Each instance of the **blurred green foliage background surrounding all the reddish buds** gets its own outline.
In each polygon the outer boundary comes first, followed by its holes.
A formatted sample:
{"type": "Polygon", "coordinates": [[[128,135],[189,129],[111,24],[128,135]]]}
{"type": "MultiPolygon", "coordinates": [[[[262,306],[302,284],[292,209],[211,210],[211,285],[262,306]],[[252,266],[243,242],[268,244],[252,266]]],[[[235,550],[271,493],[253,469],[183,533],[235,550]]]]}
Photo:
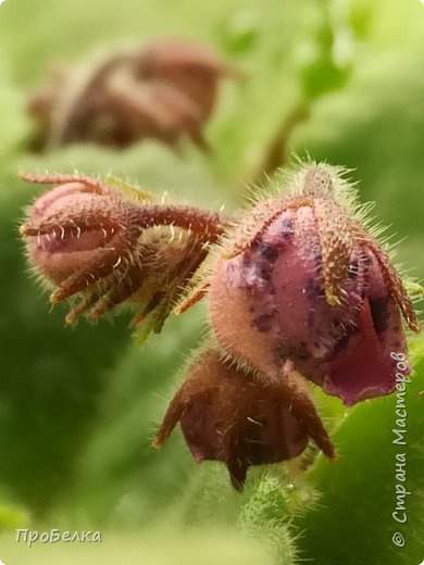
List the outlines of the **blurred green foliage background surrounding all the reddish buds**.
{"type": "MultiPolygon", "coordinates": [[[[395,399],[345,414],[319,397],[341,459],[253,469],[242,495],[220,465],[192,463],[154,428],[201,339],[204,305],[139,348],[123,314],[64,328],[28,276],[17,234],[37,189],[16,172],[122,175],[219,209],[291,153],[352,168],[361,199],[424,276],[424,5],[419,0],[7,0],[0,7],[0,560],[97,564],[410,564],[424,558],[424,348],[408,397],[408,524],[395,510],[395,399]],[[223,83],[203,154],[158,142],[29,150],[27,92],[52,62],[183,37],[214,47],[242,80],[223,83]],[[294,120],[300,114],[302,120],[294,120]],[[333,418],[333,419],[332,419],[333,418]],[[340,423],[341,422],[341,423],[340,423]],[[288,475],[286,473],[289,473],[288,475]],[[101,530],[102,543],[16,543],[16,528],[101,530]],[[401,531],[403,548],[392,535],[401,531]],[[421,532],[421,539],[420,539],[421,532]]],[[[396,448],[396,449],[395,449],[396,448]]]]}

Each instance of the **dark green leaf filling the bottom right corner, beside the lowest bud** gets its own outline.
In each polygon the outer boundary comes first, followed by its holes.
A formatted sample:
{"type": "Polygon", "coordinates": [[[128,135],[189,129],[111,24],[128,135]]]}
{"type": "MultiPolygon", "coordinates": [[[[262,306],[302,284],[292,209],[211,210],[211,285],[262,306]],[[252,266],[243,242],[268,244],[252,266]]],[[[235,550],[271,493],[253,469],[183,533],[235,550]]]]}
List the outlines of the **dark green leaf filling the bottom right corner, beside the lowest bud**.
{"type": "Polygon", "coordinates": [[[321,459],[310,472],[322,498],[316,510],[298,522],[303,558],[328,565],[419,564],[424,558],[424,340],[414,351],[407,416],[400,391],[357,405],[334,435],[339,461],[321,459]],[[403,497],[403,489],[410,494],[403,497]],[[399,510],[403,505],[406,510],[399,510]],[[394,543],[397,533],[404,547],[394,543]]]}

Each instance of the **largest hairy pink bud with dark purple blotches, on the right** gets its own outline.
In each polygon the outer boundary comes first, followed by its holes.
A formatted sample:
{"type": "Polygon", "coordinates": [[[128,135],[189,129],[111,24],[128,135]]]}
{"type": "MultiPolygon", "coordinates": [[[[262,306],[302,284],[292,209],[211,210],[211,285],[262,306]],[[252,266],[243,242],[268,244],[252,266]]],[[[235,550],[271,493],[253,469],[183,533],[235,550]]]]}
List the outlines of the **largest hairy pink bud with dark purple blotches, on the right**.
{"type": "Polygon", "coordinates": [[[395,389],[400,311],[419,329],[352,190],[336,168],[305,165],[291,193],[260,202],[227,236],[209,293],[225,351],[270,379],[289,360],[346,404],[395,389]]]}

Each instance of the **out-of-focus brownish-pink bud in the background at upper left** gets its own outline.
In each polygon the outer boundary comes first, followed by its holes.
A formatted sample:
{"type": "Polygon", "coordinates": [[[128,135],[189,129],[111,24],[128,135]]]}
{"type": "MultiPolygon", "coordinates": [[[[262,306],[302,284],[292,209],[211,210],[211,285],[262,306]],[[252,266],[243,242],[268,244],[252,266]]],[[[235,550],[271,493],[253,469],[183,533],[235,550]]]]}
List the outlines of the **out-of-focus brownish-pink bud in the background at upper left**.
{"type": "Polygon", "coordinates": [[[175,147],[188,137],[204,149],[202,128],[225,76],[236,73],[213,51],[179,39],[54,68],[28,100],[39,126],[35,148],[75,141],[123,148],[145,138],[175,147]]]}

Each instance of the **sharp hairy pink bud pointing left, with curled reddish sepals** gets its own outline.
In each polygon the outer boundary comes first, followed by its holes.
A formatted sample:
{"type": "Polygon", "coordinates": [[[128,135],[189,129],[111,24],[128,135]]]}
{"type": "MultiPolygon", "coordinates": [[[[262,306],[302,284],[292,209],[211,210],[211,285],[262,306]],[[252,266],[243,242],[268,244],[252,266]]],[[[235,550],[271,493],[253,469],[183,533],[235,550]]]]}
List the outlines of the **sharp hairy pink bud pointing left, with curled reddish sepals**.
{"type": "Polygon", "coordinates": [[[223,230],[219,214],[160,203],[149,192],[84,176],[23,176],[58,185],[21,227],[34,268],[55,288],[52,303],[83,294],[66,321],[102,316],[124,301],[142,303],[159,331],[185,285],[223,230]]]}

